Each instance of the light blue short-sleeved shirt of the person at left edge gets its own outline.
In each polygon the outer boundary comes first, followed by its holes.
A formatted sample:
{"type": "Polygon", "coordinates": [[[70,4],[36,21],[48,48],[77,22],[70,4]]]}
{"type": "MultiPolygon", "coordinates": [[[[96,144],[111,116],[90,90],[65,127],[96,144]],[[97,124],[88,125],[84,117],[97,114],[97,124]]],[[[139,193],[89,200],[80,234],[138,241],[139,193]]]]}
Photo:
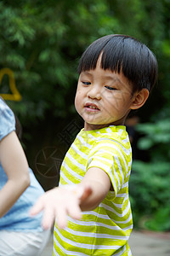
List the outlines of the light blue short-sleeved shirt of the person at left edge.
{"type": "MultiPolygon", "coordinates": [[[[14,113],[7,104],[0,98],[0,141],[10,132],[15,130],[14,113]]],[[[37,182],[36,177],[29,168],[31,184],[20,196],[14,206],[0,218],[0,230],[13,231],[41,231],[42,214],[36,218],[29,217],[29,210],[44,191],[37,182]]],[[[0,163],[0,189],[7,183],[8,177],[0,163]]]]}

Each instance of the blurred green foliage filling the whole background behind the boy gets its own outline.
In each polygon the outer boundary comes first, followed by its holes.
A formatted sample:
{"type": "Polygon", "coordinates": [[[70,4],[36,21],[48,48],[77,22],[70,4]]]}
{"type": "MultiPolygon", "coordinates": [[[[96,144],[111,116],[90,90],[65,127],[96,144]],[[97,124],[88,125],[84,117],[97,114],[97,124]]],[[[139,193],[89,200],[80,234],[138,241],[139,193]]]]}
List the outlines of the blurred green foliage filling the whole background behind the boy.
{"type": "MultiPolygon", "coordinates": [[[[74,96],[82,51],[96,38],[122,33],[156,54],[158,83],[138,113],[139,148],[148,151],[149,161],[134,160],[130,182],[134,223],[147,216],[154,230],[170,230],[169,9],[169,0],[0,1],[0,68],[14,71],[22,96],[8,105],[20,119],[27,158],[45,189],[56,177],[36,172],[37,153],[48,146],[66,150],[58,135],[78,118],[74,96]]],[[[8,78],[0,86],[1,93],[9,92],[8,78]]]]}

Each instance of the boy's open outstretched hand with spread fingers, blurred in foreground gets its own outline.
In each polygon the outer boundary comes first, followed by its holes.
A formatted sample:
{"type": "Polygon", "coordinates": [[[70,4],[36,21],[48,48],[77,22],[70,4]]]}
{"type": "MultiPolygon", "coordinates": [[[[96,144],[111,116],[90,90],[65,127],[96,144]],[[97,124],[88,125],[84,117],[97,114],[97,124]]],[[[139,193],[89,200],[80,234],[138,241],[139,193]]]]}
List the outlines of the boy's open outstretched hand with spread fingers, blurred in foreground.
{"type": "Polygon", "coordinates": [[[42,228],[48,230],[54,224],[59,229],[64,229],[67,224],[67,215],[71,218],[82,218],[80,204],[92,194],[92,189],[87,185],[65,185],[62,188],[54,188],[43,194],[37,203],[31,208],[33,217],[43,211],[42,228]]]}

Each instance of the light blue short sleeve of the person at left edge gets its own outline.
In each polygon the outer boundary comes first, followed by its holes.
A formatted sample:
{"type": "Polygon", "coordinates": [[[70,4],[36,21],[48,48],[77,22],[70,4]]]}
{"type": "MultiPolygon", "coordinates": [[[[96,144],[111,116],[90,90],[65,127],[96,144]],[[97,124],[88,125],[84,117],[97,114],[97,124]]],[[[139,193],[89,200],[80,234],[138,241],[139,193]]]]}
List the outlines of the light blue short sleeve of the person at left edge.
{"type": "Polygon", "coordinates": [[[0,98],[0,141],[15,130],[14,113],[0,98]]]}

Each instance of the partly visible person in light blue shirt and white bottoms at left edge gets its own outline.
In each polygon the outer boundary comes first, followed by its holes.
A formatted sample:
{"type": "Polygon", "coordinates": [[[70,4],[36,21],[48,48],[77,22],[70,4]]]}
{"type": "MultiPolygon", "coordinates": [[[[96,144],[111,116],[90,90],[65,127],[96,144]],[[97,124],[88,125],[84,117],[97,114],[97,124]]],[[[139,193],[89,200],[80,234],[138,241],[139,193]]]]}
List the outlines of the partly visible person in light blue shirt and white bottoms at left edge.
{"type": "Polygon", "coordinates": [[[41,255],[49,237],[42,215],[29,210],[44,193],[15,132],[14,113],[0,98],[0,256],[41,255]]]}

